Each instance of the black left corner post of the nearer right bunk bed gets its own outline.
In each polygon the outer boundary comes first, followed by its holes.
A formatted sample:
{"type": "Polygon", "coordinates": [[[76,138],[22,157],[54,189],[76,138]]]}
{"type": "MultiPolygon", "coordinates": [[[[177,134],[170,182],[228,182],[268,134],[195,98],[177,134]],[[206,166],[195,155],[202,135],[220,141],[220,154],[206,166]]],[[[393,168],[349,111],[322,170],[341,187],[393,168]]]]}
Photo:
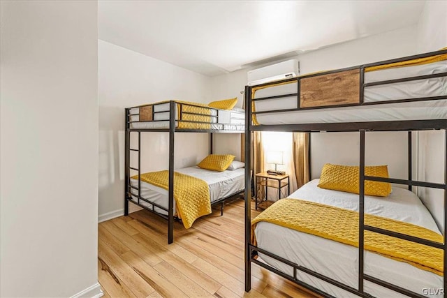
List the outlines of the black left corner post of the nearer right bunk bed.
{"type": "Polygon", "coordinates": [[[251,290],[251,87],[245,86],[245,292],[251,290]]]}

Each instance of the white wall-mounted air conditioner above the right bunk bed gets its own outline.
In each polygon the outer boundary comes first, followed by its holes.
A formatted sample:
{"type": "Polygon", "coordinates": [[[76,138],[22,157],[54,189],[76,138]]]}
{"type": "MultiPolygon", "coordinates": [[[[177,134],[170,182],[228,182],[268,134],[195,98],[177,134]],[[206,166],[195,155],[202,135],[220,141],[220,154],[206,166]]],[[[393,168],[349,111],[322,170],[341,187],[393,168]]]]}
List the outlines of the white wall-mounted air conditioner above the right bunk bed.
{"type": "Polygon", "coordinates": [[[247,73],[248,85],[254,86],[266,82],[283,80],[300,75],[298,60],[291,59],[277,64],[250,70],[247,73]]]}

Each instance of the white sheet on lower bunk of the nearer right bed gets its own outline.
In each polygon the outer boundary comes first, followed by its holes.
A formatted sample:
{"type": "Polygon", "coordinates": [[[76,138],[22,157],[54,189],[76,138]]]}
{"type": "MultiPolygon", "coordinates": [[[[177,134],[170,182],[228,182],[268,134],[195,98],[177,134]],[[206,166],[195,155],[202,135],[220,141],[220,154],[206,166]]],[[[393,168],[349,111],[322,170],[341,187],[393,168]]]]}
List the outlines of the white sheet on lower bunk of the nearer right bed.
{"type": "MultiPolygon", "coordinates": [[[[318,179],[310,181],[292,193],[289,198],[300,198],[358,210],[358,195],[318,188],[318,181],[318,179]]],[[[365,196],[365,212],[420,225],[440,234],[430,212],[419,198],[403,188],[393,188],[388,198],[365,196]]],[[[258,247],[337,281],[342,281],[353,288],[358,287],[358,248],[266,222],[256,225],[255,234],[258,247]]],[[[262,254],[260,257],[272,267],[293,276],[293,270],[288,265],[262,254]]],[[[443,287],[441,276],[376,253],[365,251],[364,264],[366,274],[420,294],[423,294],[423,288],[443,287]]],[[[335,297],[357,297],[300,271],[298,271],[298,278],[335,297]]],[[[365,281],[365,291],[374,297],[404,297],[368,281],[365,281]]]]}

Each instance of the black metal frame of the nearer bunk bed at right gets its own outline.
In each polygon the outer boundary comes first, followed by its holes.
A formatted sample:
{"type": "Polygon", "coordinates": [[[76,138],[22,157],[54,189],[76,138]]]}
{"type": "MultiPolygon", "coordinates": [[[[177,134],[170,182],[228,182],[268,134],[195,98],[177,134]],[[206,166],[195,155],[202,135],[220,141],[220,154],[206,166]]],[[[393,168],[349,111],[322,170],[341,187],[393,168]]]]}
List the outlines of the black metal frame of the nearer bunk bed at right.
{"type": "MultiPolygon", "coordinates": [[[[365,84],[363,82],[364,78],[364,72],[365,68],[369,66],[379,66],[382,64],[391,64],[395,62],[400,61],[406,61],[410,59],[418,59],[423,57],[430,57],[434,54],[446,54],[447,50],[441,50],[437,52],[430,52],[426,54],[418,54],[411,57],[403,57],[400,59],[392,59],[387,61],[381,61],[374,64],[365,64],[362,66],[356,66],[352,68],[343,68],[339,70],[332,70],[324,73],[316,73],[314,75],[304,75],[302,77],[296,77],[293,79],[288,80],[281,80],[277,82],[270,82],[258,85],[256,87],[261,86],[268,86],[270,84],[275,84],[278,82],[291,82],[291,81],[297,81],[298,82],[298,90],[296,94],[286,94],[281,96],[269,96],[265,98],[252,98],[251,91],[253,87],[246,86],[245,87],[245,106],[251,107],[252,100],[267,100],[267,99],[274,99],[274,98],[283,98],[287,96],[298,96],[298,108],[296,109],[288,109],[288,110],[274,110],[274,111],[266,111],[266,112],[252,112],[251,108],[247,108],[245,111],[245,185],[249,185],[250,183],[250,168],[251,168],[251,132],[252,131],[289,131],[289,132],[352,132],[352,131],[358,131],[360,133],[360,161],[359,161],[359,167],[360,167],[360,194],[359,194],[359,239],[358,239],[358,288],[352,288],[349,285],[346,285],[342,282],[336,281],[333,278],[330,278],[328,276],[325,276],[323,274],[319,274],[316,271],[313,271],[311,269],[308,269],[306,267],[302,267],[298,264],[295,264],[289,260],[286,260],[284,258],[279,257],[278,255],[274,255],[273,253],[270,253],[268,251],[265,251],[261,248],[258,248],[257,246],[254,246],[251,244],[251,188],[245,188],[245,291],[249,292],[251,290],[251,262],[264,267],[265,269],[268,269],[270,271],[273,271],[274,273],[278,274],[279,276],[282,276],[289,281],[293,281],[294,283],[297,283],[298,285],[301,285],[304,288],[307,288],[308,290],[311,290],[312,292],[315,292],[319,295],[322,295],[323,297],[331,297],[328,295],[328,293],[323,292],[322,290],[319,290],[315,288],[312,285],[309,285],[303,281],[298,280],[297,278],[297,270],[300,270],[302,272],[305,272],[306,274],[309,274],[311,276],[314,276],[316,278],[320,278],[322,281],[325,281],[327,283],[330,283],[332,285],[336,285],[339,288],[342,288],[343,290],[346,290],[348,292],[351,292],[355,295],[358,295],[360,297],[371,297],[367,292],[365,292],[363,283],[364,281],[369,281],[372,283],[376,283],[377,285],[381,285],[384,288],[388,288],[390,290],[394,290],[396,292],[400,292],[401,294],[407,295],[409,297],[425,297],[423,295],[420,295],[420,293],[416,293],[410,290],[407,290],[405,288],[399,287],[397,285],[393,285],[391,283],[388,283],[387,281],[383,281],[380,278],[377,278],[375,276],[369,276],[365,274],[364,272],[364,231],[369,230],[376,233],[386,234],[391,237],[397,237],[400,239],[405,239],[408,241],[413,241],[419,244],[425,244],[427,246],[432,246],[435,248],[440,248],[444,251],[444,290],[447,290],[447,278],[446,278],[446,272],[447,272],[447,241],[446,241],[446,228],[447,228],[447,119],[431,119],[431,120],[409,120],[409,121],[371,121],[371,122],[354,122],[354,123],[323,123],[323,124],[278,124],[278,125],[258,125],[254,126],[251,121],[251,117],[253,114],[261,114],[261,113],[281,113],[281,112],[289,112],[289,111],[297,111],[297,110],[309,110],[311,108],[300,108],[300,80],[305,77],[313,77],[317,75],[325,75],[328,73],[337,73],[339,71],[344,70],[352,70],[356,68],[360,68],[360,103],[358,105],[380,105],[380,104],[386,104],[386,103],[401,103],[401,102],[409,102],[409,101],[422,101],[422,100],[443,100],[447,99],[447,96],[431,96],[427,98],[411,98],[411,99],[401,99],[401,100],[387,100],[387,101],[381,101],[381,102],[374,102],[374,103],[364,103],[363,102],[363,91],[365,87],[368,86],[374,86],[374,85],[380,85],[380,84],[394,84],[398,82],[408,82],[412,80],[423,80],[427,78],[432,77],[445,77],[447,76],[447,73],[438,73],[438,74],[432,74],[432,75],[421,75],[416,77],[406,77],[406,78],[400,78],[396,80],[386,80],[381,82],[374,82],[365,84]],[[422,130],[444,130],[444,137],[446,139],[446,142],[444,144],[444,183],[443,184],[437,184],[437,183],[430,183],[425,181],[415,181],[411,177],[411,131],[422,131],[422,130]],[[408,131],[408,167],[409,167],[409,173],[408,173],[408,180],[403,179],[392,179],[392,178],[381,178],[381,177],[370,177],[365,175],[365,132],[366,131],[408,131]],[[403,184],[407,185],[409,187],[409,190],[411,191],[412,186],[421,186],[421,187],[427,187],[427,188],[439,188],[444,190],[444,243],[438,243],[435,241],[428,241],[426,239],[421,239],[418,237],[411,237],[406,234],[400,234],[397,232],[389,231],[389,230],[383,230],[380,228],[375,228],[370,225],[365,225],[365,181],[381,181],[381,182],[389,182],[389,183],[395,183],[395,184],[403,184]],[[279,271],[278,269],[275,269],[274,267],[271,267],[270,265],[267,265],[266,263],[260,262],[256,260],[256,255],[258,253],[263,253],[265,255],[268,255],[271,258],[274,258],[275,260],[278,260],[280,262],[283,262],[286,265],[289,265],[293,268],[293,276],[289,276],[288,274],[283,273],[282,271],[279,271]]],[[[316,108],[328,108],[328,107],[346,107],[349,105],[332,105],[332,106],[325,106],[325,107],[316,107],[316,108]]],[[[309,140],[310,142],[310,140],[309,140]]],[[[310,147],[310,144],[309,144],[310,147]]]]}

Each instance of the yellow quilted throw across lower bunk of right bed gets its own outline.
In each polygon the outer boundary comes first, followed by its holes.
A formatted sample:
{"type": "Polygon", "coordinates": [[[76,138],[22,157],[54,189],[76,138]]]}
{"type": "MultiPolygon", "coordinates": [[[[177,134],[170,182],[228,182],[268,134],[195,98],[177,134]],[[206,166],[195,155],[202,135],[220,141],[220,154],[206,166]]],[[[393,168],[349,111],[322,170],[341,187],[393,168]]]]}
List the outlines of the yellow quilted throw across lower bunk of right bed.
{"type": "MultiPolygon", "coordinates": [[[[251,243],[256,245],[256,223],[268,221],[300,232],[358,247],[358,212],[295,199],[281,199],[251,221],[251,243]]],[[[444,237],[411,223],[365,214],[365,224],[442,243],[444,237]]],[[[443,275],[443,252],[423,244],[365,230],[365,250],[423,270],[443,275]]]]}

